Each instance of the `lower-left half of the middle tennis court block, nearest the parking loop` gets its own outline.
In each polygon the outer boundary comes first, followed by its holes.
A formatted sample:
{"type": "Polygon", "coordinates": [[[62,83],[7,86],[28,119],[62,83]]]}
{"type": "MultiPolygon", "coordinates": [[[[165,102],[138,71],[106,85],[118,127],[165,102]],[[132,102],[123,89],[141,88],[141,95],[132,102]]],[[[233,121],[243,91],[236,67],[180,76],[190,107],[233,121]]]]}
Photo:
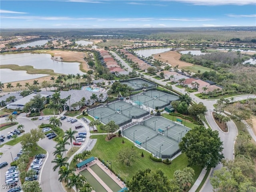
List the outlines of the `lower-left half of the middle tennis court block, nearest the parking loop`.
{"type": "Polygon", "coordinates": [[[132,121],[132,118],[128,118],[121,113],[116,112],[108,107],[94,108],[88,111],[88,114],[95,119],[99,119],[102,123],[107,124],[113,120],[119,126],[132,121]]]}

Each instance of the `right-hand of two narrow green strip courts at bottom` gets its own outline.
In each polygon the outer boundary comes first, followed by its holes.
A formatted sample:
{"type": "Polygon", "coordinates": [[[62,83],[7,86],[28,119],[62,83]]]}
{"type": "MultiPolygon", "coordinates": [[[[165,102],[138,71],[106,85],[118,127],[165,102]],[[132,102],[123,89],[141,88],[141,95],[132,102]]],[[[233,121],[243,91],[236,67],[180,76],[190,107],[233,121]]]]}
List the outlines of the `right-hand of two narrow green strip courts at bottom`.
{"type": "Polygon", "coordinates": [[[90,168],[100,177],[100,179],[108,185],[112,191],[119,191],[121,187],[112,179],[106,172],[104,172],[97,164],[90,166],[90,168]]]}

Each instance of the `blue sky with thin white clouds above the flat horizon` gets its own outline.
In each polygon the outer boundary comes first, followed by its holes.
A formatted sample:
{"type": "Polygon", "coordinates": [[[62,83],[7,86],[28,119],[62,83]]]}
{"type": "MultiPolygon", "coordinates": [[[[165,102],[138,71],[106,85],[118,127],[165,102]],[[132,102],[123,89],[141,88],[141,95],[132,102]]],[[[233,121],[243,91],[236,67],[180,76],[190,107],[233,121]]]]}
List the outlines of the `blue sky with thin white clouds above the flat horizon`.
{"type": "Polygon", "coordinates": [[[1,28],[256,26],[256,0],[1,0],[1,28]]]}

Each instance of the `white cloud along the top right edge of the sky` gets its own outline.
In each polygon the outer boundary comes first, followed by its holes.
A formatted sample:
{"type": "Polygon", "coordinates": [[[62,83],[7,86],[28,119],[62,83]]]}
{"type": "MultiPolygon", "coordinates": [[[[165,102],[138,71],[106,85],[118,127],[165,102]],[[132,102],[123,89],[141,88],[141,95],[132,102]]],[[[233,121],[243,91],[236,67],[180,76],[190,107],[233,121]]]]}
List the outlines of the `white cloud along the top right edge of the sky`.
{"type": "Polygon", "coordinates": [[[255,0],[165,0],[190,3],[194,5],[249,5],[256,4],[255,0]]]}

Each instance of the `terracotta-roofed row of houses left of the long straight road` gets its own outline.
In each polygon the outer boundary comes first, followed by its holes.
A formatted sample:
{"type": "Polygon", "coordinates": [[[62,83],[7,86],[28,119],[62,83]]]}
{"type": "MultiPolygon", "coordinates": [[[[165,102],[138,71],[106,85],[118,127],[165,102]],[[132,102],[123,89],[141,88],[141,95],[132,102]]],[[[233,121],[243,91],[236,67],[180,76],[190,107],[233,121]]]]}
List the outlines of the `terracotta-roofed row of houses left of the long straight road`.
{"type": "Polygon", "coordinates": [[[106,64],[106,68],[110,70],[111,73],[119,76],[120,74],[128,75],[129,72],[122,69],[118,63],[112,58],[112,56],[106,50],[101,50],[100,55],[103,57],[104,63],[106,64]],[[117,73],[118,72],[118,73],[117,73]]]}

